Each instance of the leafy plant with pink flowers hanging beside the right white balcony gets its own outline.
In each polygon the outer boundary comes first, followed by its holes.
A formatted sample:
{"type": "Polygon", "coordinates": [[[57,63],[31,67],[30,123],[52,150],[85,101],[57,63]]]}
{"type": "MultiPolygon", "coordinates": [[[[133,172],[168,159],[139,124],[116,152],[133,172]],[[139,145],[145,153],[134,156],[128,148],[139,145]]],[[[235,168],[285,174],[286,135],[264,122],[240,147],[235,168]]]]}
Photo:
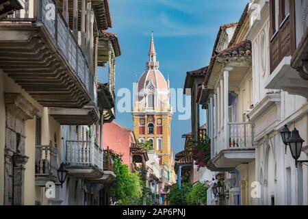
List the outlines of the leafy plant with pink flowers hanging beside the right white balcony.
{"type": "Polygon", "coordinates": [[[205,136],[198,136],[198,140],[192,142],[192,158],[198,168],[205,167],[211,159],[211,140],[205,136]]]}

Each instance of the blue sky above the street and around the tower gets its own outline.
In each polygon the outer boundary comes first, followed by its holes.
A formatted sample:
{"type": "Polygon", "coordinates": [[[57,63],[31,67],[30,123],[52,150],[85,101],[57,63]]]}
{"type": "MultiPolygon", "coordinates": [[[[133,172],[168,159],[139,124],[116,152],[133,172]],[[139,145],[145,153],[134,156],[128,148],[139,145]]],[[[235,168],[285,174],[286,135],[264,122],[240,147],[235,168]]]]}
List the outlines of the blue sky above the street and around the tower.
{"type": "MultiPolygon", "coordinates": [[[[116,60],[116,90],[132,90],[144,72],[154,31],[159,70],[170,87],[183,88],[186,72],[209,64],[220,25],[238,22],[248,0],[110,0],[113,27],[122,55],[116,60]]],[[[101,68],[104,82],[107,69],[101,68]]],[[[118,98],[119,99],[119,98],[118,98]]],[[[117,99],[117,101],[118,101],[117,99]]],[[[201,123],[205,113],[201,112],[201,123]]],[[[116,122],[133,128],[130,113],[116,113],[116,122]]],[[[183,150],[181,135],[190,132],[190,120],[172,121],[171,144],[175,153],[183,150]]]]}

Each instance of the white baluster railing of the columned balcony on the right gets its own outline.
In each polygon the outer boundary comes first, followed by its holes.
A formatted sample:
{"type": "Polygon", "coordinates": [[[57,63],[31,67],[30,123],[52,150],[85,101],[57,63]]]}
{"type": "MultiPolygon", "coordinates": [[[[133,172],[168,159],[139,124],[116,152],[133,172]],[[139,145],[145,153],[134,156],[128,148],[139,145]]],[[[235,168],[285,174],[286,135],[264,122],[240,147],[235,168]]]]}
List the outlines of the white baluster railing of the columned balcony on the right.
{"type": "MultiPolygon", "coordinates": [[[[225,129],[225,128],[224,128],[225,129]]],[[[251,149],[254,147],[254,124],[253,123],[229,123],[228,139],[224,129],[217,133],[214,138],[214,158],[222,150],[251,149]]]]}

